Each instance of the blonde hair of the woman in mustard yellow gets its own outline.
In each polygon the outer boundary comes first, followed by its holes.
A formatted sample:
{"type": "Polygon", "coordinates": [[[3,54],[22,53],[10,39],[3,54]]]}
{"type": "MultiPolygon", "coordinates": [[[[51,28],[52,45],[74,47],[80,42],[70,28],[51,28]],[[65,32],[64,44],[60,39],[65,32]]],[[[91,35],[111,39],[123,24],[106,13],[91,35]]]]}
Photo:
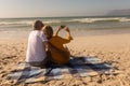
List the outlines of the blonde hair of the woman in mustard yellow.
{"type": "Polygon", "coordinates": [[[47,35],[47,39],[51,39],[53,35],[53,29],[51,26],[44,26],[42,29],[43,33],[47,35]]]}

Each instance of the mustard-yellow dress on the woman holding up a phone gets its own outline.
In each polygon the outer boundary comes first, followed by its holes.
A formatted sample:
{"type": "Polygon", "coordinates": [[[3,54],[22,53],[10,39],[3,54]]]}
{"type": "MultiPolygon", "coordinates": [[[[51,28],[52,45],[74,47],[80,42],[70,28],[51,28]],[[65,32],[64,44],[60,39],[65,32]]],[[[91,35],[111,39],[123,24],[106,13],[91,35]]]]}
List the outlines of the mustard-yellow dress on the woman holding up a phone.
{"type": "Polygon", "coordinates": [[[69,52],[63,46],[66,43],[69,43],[69,39],[63,39],[58,35],[52,37],[49,42],[57,48],[60,52],[51,52],[52,54],[52,61],[55,63],[64,64],[69,61],[69,52]]]}

